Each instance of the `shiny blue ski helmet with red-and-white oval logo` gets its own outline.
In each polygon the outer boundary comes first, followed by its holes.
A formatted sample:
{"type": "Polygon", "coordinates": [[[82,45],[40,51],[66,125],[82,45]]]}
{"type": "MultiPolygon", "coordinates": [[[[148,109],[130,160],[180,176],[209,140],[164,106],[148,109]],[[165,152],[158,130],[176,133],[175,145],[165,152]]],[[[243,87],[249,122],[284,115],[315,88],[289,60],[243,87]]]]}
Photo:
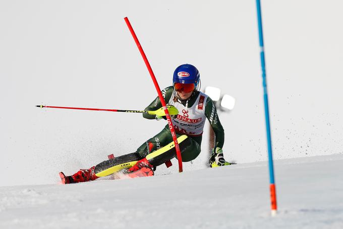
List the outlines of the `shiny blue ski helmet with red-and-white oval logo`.
{"type": "Polygon", "coordinates": [[[173,75],[173,83],[194,83],[198,85],[200,79],[199,71],[191,64],[183,64],[177,67],[173,75]]]}

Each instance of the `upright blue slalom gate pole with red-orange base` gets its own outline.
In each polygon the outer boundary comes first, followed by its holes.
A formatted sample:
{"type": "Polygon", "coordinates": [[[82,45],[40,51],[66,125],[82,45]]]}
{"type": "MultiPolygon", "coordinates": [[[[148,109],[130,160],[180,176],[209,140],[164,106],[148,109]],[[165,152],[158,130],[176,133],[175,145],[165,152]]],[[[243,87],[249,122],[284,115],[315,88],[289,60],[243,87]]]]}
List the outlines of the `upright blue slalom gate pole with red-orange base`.
{"type": "Polygon", "coordinates": [[[267,131],[271,214],[275,215],[276,210],[277,210],[277,205],[276,205],[276,191],[275,191],[275,180],[274,180],[273,154],[272,154],[272,148],[271,148],[268,91],[267,91],[266,68],[265,68],[265,60],[264,60],[264,44],[263,44],[263,30],[262,30],[262,16],[261,16],[260,0],[256,0],[256,8],[257,8],[257,21],[258,21],[258,34],[259,34],[259,40],[260,40],[260,57],[261,57],[262,80],[263,80],[264,114],[265,114],[266,131],[267,131]]]}

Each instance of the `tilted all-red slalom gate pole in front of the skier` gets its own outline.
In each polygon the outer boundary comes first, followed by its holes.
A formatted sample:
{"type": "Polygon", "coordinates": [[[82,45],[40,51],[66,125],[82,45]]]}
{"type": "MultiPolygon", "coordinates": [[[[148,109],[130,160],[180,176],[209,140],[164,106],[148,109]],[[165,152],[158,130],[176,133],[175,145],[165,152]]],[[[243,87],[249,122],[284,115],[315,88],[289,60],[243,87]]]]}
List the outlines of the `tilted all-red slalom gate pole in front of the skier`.
{"type": "Polygon", "coordinates": [[[133,36],[133,39],[135,40],[135,42],[137,44],[139,52],[141,53],[141,55],[143,57],[144,63],[146,65],[146,67],[148,68],[148,71],[150,73],[151,79],[152,79],[152,81],[153,81],[153,83],[155,85],[155,88],[157,90],[157,94],[158,94],[159,100],[161,101],[161,104],[162,104],[165,116],[167,118],[167,122],[168,122],[168,126],[169,126],[169,129],[170,129],[170,132],[172,133],[172,136],[173,136],[173,141],[174,141],[175,149],[176,149],[176,155],[177,155],[178,161],[179,161],[179,172],[182,172],[182,158],[181,158],[181,151],[180,151],[178,139],[177,139],[176,132],[175,132],[175,129],[174,129],[174,126],[173,126],[172,118],[170,118],[168,109],[166,107],[164,98],[162,96],[161,89],[159,88],[159,85],[158,85],[158,82],[156,80],[155,74],[154,74],[154,72],[151,69],[151,66],[149,64],[148,58],[145,56],[143,48],[142,48],[141,44],[139,43],[139,40],[138,40],[138,38],[136,36],[135,31],[133,30],[133,28],[131,26],[131,23],[130,23],[128,17],[125,17],[124,20],[125,20],[127,26],[129,27],[131,35],[133,36]]]}

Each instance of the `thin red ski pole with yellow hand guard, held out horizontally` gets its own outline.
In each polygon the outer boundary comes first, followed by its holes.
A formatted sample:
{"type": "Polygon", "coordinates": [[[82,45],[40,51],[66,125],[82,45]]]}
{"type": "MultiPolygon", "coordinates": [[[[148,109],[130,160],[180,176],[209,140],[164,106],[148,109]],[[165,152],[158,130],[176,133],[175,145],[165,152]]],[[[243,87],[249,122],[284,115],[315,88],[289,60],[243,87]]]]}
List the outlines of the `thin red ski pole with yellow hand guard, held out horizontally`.
{"type": "MultiPolygon", "coordinates": [[[[128,112],[128,113],[146,113],[151,115],[164,116],[163,108],[157,109],[155,111],[136,111],[136,110],[119,110],[119,109],[99,109],[99,108],[82,108],[82,107],[55,107],[55,106],[43,106],[37,105],[40,108],[59,108],[59,109],[73,109],[73,110],[89,110],[89,111],[112,111],[112,112],[128,112]]],[[[173,106],[167,106],[169,113],[171,115],[177,115],[179,113],[178,109],[173,106]]]]}

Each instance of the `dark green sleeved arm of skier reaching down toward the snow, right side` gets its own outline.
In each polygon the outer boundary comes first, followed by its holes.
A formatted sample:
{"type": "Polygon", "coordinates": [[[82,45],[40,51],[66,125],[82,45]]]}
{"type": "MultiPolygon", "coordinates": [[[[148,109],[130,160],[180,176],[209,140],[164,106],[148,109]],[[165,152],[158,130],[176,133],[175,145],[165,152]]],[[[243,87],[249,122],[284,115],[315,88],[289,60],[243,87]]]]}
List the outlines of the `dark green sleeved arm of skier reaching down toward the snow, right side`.
{"type": "Polygon", "coordinates": [[[211,127],[215,133],[215,145],[214,148],[223,148],[224,145],[224,128],[222,127],[219,117],[217,114],[217,109],[211,98],[207,98],[205,104],[205,115],[211,124],[211,127]]]}

